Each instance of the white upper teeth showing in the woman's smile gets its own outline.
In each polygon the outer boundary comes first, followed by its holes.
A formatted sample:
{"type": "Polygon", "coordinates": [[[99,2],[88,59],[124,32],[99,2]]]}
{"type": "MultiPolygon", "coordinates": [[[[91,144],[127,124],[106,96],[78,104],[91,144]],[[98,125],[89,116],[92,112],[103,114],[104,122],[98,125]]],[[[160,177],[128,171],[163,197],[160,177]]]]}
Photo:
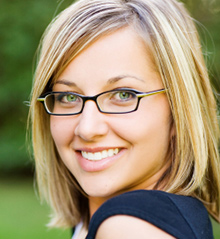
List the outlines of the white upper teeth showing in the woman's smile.
{"type": "Polygon", "coordinates": [[[81,151],[83,158],[86,158],[88,160],[94,160],[94,161],[112,157],[113,155],[118,154],[118,152],[119,152],[118,148],[103,150],[103,151],[95,152],[95,153],[81,151]]]}

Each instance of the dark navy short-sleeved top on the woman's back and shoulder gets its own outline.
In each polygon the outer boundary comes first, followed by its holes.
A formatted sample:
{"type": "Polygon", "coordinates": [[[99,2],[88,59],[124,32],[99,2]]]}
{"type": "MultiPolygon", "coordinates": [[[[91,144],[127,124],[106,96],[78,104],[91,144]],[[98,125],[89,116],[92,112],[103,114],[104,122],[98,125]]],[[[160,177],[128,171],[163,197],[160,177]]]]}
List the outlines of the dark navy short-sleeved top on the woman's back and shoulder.
{"type": "Polygon", "coordinates": [[[127,192],[106,201],[94,213],[86,239],[94,239],[100,224],[113,215],[143,219],[178,239],[213,239],[208,213],[199,200],[156,190],[127,192]]]}

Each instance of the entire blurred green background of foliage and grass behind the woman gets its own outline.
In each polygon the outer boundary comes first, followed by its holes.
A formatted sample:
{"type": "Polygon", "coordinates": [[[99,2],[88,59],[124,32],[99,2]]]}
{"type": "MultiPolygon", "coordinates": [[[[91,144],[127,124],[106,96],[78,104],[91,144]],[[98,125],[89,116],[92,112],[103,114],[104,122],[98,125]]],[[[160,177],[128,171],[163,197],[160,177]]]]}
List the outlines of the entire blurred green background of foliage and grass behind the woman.
{"type": "MultiPolygon", "coordinates": [[[[26,119],[40,37],[72,0],[0,0],[0,239],[65,239],[70,230],[48,230],[49,208],[33,186],[34,166],[25,143],[26,119]]],[[[220,0],[184,0],[198,20],[203,52],[220,92],[220,0]]],[[[220,226],[214,223],[215,238],[220,226]]]]}

